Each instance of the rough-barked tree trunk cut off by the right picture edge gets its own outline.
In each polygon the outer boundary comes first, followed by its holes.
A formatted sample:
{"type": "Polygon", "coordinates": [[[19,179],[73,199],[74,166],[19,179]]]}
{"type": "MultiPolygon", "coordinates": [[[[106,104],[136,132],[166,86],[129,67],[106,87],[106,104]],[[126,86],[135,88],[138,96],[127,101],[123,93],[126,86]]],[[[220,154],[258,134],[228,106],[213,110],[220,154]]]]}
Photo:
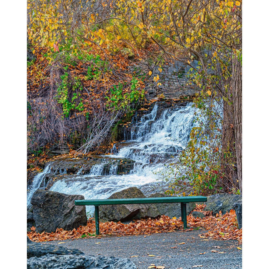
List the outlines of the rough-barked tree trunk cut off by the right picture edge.
{"type": "Polygon", "coordinates": [[[232,93],[233,93],[234,123],[235,123],[237,176],[238,176],[240,194],[242,194],[242,64],[238,60],[238,55],[234,56],[234,58],[232,59],[232,63],[233,63],[232,93]]]}

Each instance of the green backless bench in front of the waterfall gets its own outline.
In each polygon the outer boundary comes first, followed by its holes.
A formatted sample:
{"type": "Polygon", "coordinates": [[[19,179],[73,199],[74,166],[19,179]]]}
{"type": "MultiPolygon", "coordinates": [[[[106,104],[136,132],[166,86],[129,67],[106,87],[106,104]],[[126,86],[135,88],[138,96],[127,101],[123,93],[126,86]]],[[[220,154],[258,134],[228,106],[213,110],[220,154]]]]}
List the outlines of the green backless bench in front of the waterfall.
{"type": "Polygon", "coordinates": [[[130,198],[130,199],[100,199],[100,200],[75,200],[75,205],[93,205],[95,210],[95,228],[99,235],[99,206],[108,204],[163,204],[181,203],[181,221],[184,229],[187,228],[186,204],[190,202],[206,202],[205,196],[186,196],[186,197],[155,197],[155,198],[130,198]]]}

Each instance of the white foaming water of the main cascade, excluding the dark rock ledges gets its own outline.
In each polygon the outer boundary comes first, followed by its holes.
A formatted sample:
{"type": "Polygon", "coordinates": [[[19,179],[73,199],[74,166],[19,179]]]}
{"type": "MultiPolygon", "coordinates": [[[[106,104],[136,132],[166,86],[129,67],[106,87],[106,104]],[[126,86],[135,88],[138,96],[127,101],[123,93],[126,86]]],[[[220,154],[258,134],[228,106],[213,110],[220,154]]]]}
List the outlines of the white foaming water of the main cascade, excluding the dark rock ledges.
{"type": "MultiPolygon", "coordinates": [[[[132,123],[136,128],[131,133],[131,139],[122,144],[117,154],[109,155],[111,158],[135,161],[134,169],[129,174],[117,175],[115,165],[111,166],[109,175],[101,175],[102,165],[96,164],[88,175],[82,175],[80,171],[72,177],[62,175],[50,190],[80,194],[85,199],[106,199],[114,192],[155,182],[158,179],[155,172],[162,169],[163,160],[184,149],[189,140],[194,116],[191,105],[164,109],[161,117],[156,119],[158,105],[155,104],[151,113],[144,115],[140,122],[132,123]]],[[[88,206],[86,211],[93,213],[94,207],[88,206]]]]}

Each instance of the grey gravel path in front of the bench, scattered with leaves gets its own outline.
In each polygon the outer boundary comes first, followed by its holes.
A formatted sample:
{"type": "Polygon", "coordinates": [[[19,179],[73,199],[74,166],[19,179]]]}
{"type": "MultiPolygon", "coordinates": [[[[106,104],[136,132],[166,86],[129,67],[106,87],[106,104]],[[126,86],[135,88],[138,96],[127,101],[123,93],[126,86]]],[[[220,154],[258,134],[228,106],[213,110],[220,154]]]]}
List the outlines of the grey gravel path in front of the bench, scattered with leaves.
{"type": "Polygon", "coordinates": [[[242,244],[236,240],[199,237],[203,230],[156,233],[149,236],[108,236],[50,241],[46,244],[76,248],[86,255],[129,258],[137,268],[242,268],[242,244]],[[184,243],[184,244],[183,244],[184,243]],[[238,249],[240,247],[241,249],[238,249]],[[152,256],[150,256],[152,255],[152,256]]]}

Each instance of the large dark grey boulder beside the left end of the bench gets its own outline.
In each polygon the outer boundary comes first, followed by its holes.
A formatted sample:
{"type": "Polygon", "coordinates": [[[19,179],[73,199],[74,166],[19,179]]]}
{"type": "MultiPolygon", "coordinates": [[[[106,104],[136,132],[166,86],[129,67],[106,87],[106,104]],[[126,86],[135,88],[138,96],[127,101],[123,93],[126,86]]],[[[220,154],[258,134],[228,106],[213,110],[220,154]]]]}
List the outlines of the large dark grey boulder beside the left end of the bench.
{"type": "Polygon", "coordinates": [[[36,190],[31,199],[36,232],[51,233],[57,228],[73,230],[80,225],[85,226],[87,224],[86,208],[75,206],[75,200],[84,200],[84,196],[36,190]]]}

